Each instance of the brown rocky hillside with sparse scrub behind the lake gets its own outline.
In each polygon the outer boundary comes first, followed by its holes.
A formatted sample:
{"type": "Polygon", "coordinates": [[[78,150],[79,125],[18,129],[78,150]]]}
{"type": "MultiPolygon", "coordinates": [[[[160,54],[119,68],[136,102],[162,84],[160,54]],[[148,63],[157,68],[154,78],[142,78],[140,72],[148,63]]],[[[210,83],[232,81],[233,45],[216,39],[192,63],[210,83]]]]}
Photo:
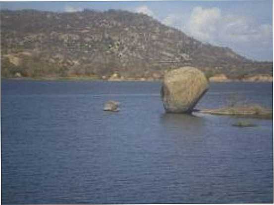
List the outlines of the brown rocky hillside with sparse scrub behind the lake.
{"type": "Polygon", "coordinates": [[[197,41],[143,14],[1,10],[1,76],[160,79],[194,66],[208,76],[271,74],[227,47],[197,41]]]}

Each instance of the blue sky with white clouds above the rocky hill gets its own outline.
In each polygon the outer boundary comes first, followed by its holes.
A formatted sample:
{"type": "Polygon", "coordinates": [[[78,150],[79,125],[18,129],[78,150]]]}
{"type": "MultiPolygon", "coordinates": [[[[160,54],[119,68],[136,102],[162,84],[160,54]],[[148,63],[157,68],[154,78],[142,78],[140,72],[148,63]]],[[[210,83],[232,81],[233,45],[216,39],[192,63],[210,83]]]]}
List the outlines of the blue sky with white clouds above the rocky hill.
{"type": "Polygon", "coordinates": [[[0,2],[1,9],[76,12],[121,9],[144,13],[195,39],[272,61],[272,0],[215,1],[35,1],[0,2]]]}

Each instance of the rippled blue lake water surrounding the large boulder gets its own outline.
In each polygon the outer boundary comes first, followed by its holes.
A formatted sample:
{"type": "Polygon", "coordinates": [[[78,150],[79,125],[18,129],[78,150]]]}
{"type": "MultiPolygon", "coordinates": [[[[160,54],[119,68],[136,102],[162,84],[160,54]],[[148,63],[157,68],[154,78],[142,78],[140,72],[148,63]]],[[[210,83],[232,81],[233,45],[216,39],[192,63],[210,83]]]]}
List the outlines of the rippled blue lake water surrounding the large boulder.
{"type": "MultiPolygon", "coordinates": [[[[273,121],[165,114],[160,89],[1,80],[2,204],[273,203],[273,121]]],[[[196,108],[233,101],[272,108],[273,85],[211,83],[196,108]]]]}

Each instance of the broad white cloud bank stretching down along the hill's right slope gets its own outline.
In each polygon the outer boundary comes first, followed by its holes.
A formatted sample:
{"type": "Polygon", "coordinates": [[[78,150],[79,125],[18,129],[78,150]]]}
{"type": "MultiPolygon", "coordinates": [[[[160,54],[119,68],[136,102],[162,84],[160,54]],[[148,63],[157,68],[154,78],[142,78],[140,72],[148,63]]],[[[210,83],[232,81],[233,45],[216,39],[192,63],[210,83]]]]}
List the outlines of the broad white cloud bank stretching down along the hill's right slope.
{"type": "Polygon", "coordinates": [[[249,58],[272,59],[272,25],[260,24],[252,17],[224,15],[217,7],[199,6],[188,15],[169,14],[162,22],[197,40],[231,47],[249,58]]]}

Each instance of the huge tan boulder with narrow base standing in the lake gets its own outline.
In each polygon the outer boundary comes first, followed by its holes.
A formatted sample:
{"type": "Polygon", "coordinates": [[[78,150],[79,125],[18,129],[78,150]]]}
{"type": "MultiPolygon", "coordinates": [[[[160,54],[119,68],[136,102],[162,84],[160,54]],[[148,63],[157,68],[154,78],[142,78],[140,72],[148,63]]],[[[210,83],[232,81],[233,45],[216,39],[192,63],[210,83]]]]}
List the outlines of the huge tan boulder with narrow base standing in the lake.
{"type": "Polygon", "coordinates": [[[164,75],[162,99],[169,113],[191,113],[206,93],[209,83],[203,72],[193,67],[168,71],[164,75]]]}

